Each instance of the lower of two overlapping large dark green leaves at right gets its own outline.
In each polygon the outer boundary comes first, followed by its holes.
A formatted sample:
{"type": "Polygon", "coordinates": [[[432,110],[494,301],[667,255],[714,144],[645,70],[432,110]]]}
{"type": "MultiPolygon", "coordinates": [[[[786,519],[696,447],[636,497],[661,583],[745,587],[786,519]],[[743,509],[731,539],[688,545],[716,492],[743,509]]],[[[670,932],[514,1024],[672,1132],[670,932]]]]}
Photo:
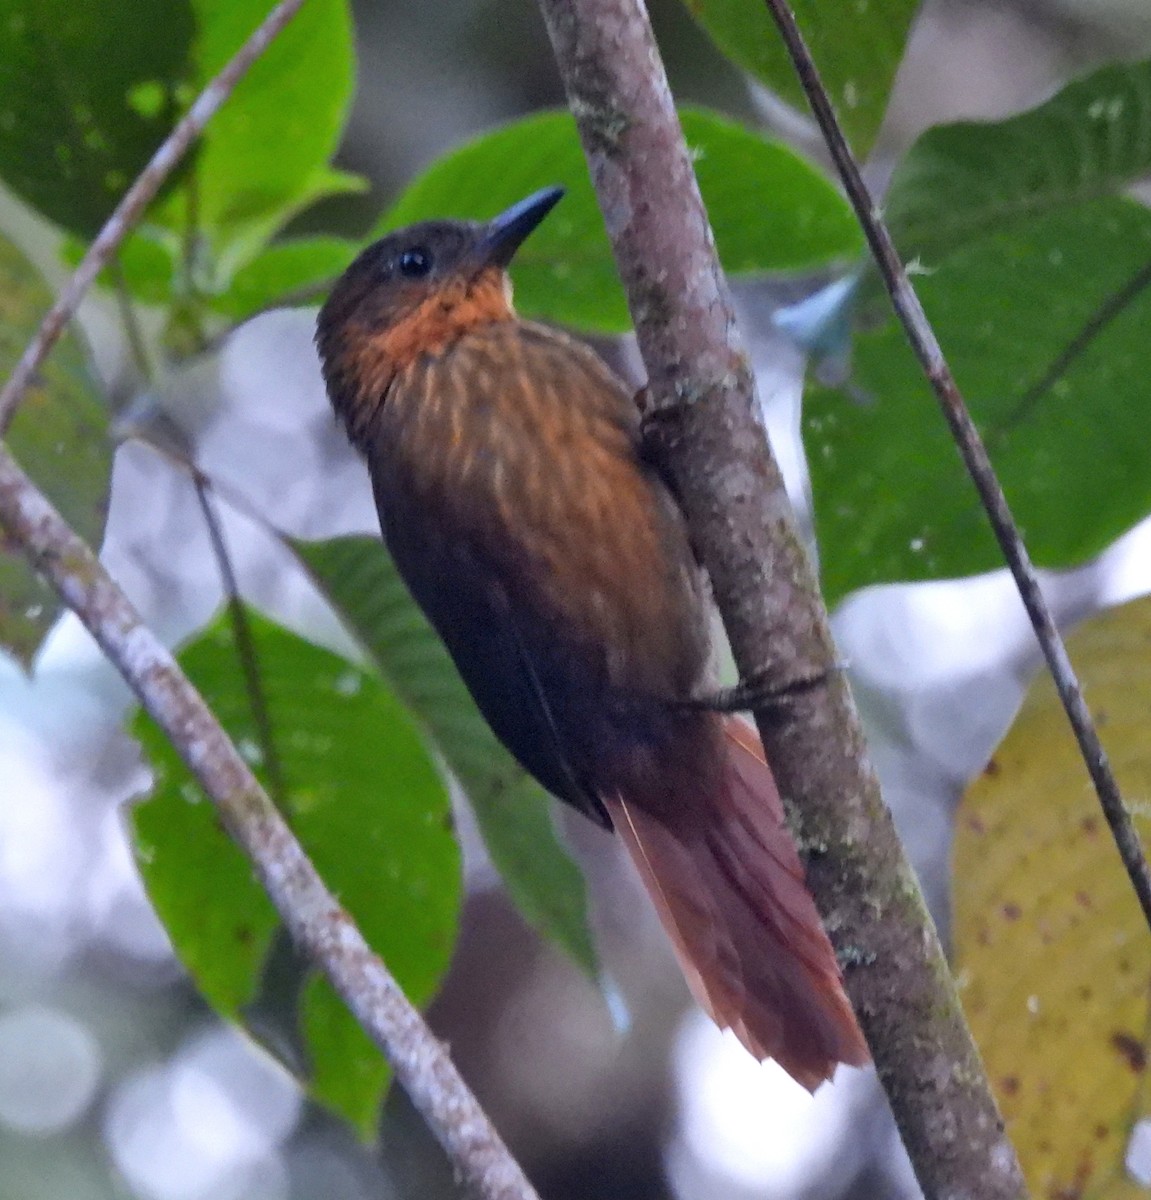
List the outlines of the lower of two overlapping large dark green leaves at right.
{"type": "MultiPolygon", "coordinates": [[[[1068,342],[1151,260],[1151,212],[1101,200],[952,254],[917,281],[1032,557],[1069,566],[1151,510],[1144,292],[1050,388],[1068,342]]],[[[894,320],[856,341],[850,392],[813,385],[804,440],[828,602],[1002,558],[894,320]],[[861,402],[859,394],[868,397],[861,402]]]]}

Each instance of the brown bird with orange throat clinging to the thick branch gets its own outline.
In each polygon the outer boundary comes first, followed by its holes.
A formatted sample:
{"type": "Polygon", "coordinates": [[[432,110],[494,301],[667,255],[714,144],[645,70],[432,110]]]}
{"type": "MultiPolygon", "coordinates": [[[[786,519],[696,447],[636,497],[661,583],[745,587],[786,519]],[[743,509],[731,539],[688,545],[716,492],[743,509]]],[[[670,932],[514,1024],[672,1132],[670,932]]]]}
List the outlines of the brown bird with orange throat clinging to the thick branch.
{"type": "Polygon", "coordinates": [[[508,265],[562,194],[365,250],[319,314],[328,394],[496,734],[618,830],[703,1008],[814,1088],[868,1051],[760,742],[697,703],[709,601],[684,518],[623,383],[511,306],[508,265]]]}

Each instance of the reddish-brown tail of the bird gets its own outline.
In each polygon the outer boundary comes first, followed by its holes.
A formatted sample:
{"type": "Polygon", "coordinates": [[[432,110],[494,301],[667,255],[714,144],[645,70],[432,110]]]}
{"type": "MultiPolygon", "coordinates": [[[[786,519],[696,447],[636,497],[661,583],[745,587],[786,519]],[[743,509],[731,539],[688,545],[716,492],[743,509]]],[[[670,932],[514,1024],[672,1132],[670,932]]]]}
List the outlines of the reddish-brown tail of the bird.
{"type": "Polygon", "coordinates": [[[625,796],[604,803],[700,1006],[814,1091],[838,1063],[868,1062],[867,1043],[760,739],[738,718],[724,732],[715,794],[659,816],[625,796]]]}

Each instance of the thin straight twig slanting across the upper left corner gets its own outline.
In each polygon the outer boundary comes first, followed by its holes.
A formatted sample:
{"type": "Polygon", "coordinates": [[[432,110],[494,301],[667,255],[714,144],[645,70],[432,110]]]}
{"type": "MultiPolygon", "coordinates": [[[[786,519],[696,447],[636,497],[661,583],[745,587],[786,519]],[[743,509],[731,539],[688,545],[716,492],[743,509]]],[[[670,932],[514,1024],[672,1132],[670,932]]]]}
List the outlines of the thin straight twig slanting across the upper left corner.
{"type": "Polygon", "coordinates": [[[36,336],[20,355],[19,362],[0,390],[0,437],[7,432],[17,406],[24,397],[41,364],[76,314],[84,293],[109,262],[128,230],[139,220],[163,181],[172,174],[188,146],[199,137],[204,126],[228,98],[247,68],[263,54],[269,42],[295,16],[304,0],[280,0],[252,36],[236,50],[228,65],[196,97],[196,102],[164,138],[148,166],[124,193],[115,211],[104,222],[96,240],[88,247],[79,266],[72,274],[56,302],[40,324],[36,336]]]}

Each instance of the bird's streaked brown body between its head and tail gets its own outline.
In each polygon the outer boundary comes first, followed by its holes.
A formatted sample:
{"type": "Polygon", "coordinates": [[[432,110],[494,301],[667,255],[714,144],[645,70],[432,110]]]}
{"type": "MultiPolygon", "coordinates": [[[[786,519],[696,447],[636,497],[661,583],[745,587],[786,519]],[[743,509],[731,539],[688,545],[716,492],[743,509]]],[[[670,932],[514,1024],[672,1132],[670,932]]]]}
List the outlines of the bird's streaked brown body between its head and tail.
{"type": "Polygon", "coordinates": [[[637,445],[591,350],[506,323],[401,374],[370,451],[388,545],[481,712],[600,822],[629,697],[689,695],[707,655],[683,521],[637,445]]]}

